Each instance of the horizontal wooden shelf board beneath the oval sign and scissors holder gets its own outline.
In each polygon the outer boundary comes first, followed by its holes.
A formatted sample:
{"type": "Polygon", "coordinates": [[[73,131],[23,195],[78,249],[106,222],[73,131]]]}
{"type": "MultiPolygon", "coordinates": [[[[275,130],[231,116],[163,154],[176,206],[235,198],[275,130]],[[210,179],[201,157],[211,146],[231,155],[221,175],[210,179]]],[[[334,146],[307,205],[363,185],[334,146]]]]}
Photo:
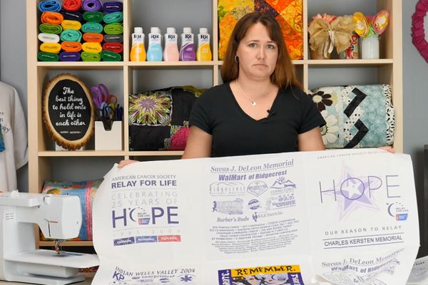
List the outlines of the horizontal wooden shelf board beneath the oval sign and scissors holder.
{"type": "Polygon", "coordinates": [[[159,150],[126,152],[124,150],[46,150],[39,152],[39,157],[91,157],[91,156],[178,156],[183,155],[182,150],[159,150]]]}

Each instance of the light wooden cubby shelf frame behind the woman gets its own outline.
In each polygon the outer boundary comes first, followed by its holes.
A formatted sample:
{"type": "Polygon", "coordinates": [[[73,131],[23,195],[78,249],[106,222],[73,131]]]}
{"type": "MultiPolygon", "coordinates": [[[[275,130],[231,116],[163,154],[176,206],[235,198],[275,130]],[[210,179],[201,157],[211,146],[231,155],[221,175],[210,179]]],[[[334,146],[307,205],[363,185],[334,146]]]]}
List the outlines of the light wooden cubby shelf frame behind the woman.
{"type": "MultiPolygon", "coordinates": [[[[113,70],[123,73],[124,120],[128,120],[128,94],[133,90],[133,73],[146,69],[208,69],[213,73],[213,86],[221,83],[219,71],[223,61],[218,60],[218,0],[212,3],[212,51],[213,61],[208,62],[131,62],[129,53],[131,33],[133,32],[133,0],[123,0],[123,61],[121,62],[39,62],[39,19],[41,13],[38,4],[41,0],[26,0],[27,23],[27,68],[28,68],[28,118],[29,118],[29,192],[40,192],[45,180],[51,180],[51,157],[123,157],[133,156],[159,157],[180,156],[183,152],[131,152],[128,143],[128,128],[124,128],[124,146],[121,151],[84,150],[74,152],[55,152],[49,150],[52,143],[46,135],[41,119],[41,99],[49,71],[55,69],[113,70]]],[[[134,0],[136,1],[136,0],[134,0]]],[[[378,60],[311,60],[308,54],[307,23],[309,0],[302,0],[303,5],[303,59],[292,61],[295,65],[305,90],[309,88],[309,71],[311,68],[377,68],[377,83],[387,83],[392,87],[392,101],[395,108],[394,148],[403,151],[403,84],[402,84],[402,0],[377,0],[377,11],[387,10],[391,15],[389,26],[381,37],[381,59],[378,60]]],[[[37,241],[39,242],[39,241],[37,241]]],[[[40,245],[45,242],[40,242],[40,245]]],[[[81,244],[81,243],[79,243],[81,244]]]]}

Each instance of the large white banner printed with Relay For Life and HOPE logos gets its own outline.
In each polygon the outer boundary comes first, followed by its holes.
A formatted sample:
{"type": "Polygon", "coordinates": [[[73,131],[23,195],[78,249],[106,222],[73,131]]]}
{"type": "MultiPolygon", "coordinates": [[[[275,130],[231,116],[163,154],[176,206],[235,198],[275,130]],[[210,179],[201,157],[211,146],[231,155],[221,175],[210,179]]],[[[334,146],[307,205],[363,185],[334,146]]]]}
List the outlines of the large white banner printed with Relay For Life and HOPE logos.
{"type": "Polygon", "coordinates": [[[364,149],[115,165],[93,244],[95,285],[406,284],[412,161],[364,149]]]}

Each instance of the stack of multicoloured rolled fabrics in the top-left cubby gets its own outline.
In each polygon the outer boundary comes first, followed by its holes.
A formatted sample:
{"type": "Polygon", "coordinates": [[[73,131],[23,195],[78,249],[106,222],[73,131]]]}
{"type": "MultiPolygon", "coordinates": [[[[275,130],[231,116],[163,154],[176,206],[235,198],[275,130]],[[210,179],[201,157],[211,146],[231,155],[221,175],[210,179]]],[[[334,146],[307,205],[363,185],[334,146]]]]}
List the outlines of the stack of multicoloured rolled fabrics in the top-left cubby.
{"type": "Polygon", "coordinates": [[[122,61],[122,2],[41,1],[39,10],[39,61],[122,61]]]}

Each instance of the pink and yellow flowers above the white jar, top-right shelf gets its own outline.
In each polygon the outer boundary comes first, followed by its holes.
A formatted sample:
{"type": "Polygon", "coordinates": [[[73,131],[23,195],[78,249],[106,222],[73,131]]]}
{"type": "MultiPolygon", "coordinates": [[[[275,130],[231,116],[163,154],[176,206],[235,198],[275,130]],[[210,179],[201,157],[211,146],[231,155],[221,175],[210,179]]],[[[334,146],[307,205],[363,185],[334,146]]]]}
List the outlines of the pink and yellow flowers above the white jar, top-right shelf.
{"type": "Polygon", "coordinates": [[[388,26],[389,13],[382,10],[376,16],[364,16],[361,12],[357,12],[352,16],[352,21],[355,24],[355,32],[359,36],[363,38],[379,36],[388,26]]]}

